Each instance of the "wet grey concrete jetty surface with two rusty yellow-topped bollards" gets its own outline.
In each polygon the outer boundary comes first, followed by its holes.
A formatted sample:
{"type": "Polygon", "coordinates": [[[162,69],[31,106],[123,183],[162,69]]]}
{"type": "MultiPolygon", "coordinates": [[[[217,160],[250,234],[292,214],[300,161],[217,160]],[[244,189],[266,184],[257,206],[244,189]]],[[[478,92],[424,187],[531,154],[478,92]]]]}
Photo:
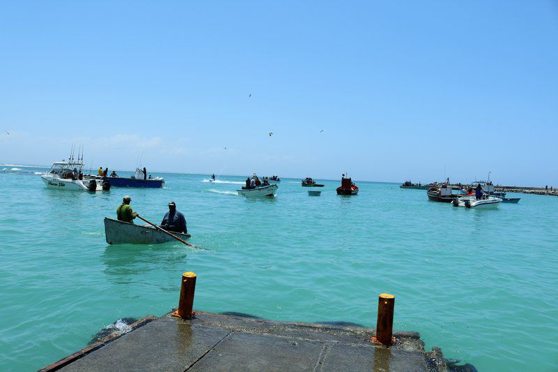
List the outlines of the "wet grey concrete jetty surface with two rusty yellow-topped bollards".
{"type": "Polygon", "coordinates": [[[416,332],[394,332],[386,347],[362,327],[203,312],[136,326],[41,371],[447,371],[442,352],[425,352],[416,332]]]}

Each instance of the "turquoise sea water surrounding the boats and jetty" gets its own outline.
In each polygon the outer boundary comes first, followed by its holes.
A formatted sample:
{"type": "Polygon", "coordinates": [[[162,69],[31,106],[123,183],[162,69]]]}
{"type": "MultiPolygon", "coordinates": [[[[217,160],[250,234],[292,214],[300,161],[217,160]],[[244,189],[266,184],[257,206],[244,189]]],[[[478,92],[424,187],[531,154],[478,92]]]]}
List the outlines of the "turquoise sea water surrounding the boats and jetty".
{"type": "Polygon", "coordinates": [[[389,292],[394,328],[446,358],[558,369],[558,198],[516,194],[519,204],[471,210],[357,174],[354,197],[335,195],[340,181],[310,197],[283,179],[277,198],[246,200],[235,191],[246,177],[198,174],[92,194],[47,190],[34,174],[43,169],[11,168],[0,173],[1,371],[39,369],[119,318],[166,313],[183,271],[198,275],[199,310],[375,327],[377,295],[389,292]],[[191,242],[210,251],[109,246],[103,217],[125,194],[156,223],[174,200],[191,242]]]}

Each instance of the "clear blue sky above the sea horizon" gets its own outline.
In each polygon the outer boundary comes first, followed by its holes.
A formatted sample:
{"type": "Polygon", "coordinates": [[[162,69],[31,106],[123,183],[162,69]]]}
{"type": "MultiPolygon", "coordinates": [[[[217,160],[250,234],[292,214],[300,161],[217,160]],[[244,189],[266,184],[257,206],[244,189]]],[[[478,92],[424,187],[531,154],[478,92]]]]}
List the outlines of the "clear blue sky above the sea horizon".
{"type": "Polygon", "coordinates": [[[3,2],[0,125],[1,163],[558,186],[558,1],[3,2]]]}

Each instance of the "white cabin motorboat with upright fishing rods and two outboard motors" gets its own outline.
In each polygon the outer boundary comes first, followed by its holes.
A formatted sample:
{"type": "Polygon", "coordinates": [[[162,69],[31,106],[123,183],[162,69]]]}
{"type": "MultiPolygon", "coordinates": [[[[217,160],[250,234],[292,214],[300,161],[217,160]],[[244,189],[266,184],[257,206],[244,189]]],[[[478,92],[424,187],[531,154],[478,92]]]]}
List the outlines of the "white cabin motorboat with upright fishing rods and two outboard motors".
{"type": "Polygon", "coordinates": [[[91,179],[83,175],[83,154],[74,158],[73,151],[68,161],[57,161],[52,164],[50,172],[41,174],[40,178],[47,188],[71,191],[108,191],[108,179],[91,179]]]}

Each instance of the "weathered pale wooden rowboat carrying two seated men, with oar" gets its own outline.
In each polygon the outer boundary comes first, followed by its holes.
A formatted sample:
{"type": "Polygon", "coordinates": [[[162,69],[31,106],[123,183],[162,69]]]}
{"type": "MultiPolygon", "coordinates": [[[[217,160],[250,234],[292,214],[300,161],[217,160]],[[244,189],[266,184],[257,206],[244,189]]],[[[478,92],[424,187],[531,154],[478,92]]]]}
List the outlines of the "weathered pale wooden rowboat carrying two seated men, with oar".
{"type": "MultiPolygon", "coordinates": [[[[183,240],[190,237],[190,234],[171,233],[183,240]]],[[[151,225],[135,225],[107,217],[105,217],[105,237],[108,244],[160,244],[175,241],[173,237],[151,225]]]]}

